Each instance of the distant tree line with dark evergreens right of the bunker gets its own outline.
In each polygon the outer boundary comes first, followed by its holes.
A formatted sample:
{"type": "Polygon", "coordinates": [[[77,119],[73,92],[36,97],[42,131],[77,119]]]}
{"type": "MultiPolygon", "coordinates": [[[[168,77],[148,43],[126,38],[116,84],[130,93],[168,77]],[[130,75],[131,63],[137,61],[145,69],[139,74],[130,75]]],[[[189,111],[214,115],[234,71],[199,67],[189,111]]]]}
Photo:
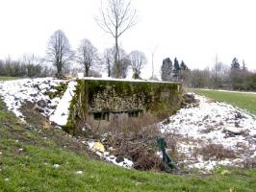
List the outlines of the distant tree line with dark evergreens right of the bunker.
{"type": "Polygon", "coordinates": [[[179,66],[177,59],[174,60],[173,65],[171,60],[163,60],[162,80],[180,81],[192,88],[256,90],[256,73],[246,68],[244,60],[240,63],[234,58],[228,65],[217,61],[214,67],[203,70],[190,70],[187,65],[185,67],[183,65],[181,62],[179,66]]]}

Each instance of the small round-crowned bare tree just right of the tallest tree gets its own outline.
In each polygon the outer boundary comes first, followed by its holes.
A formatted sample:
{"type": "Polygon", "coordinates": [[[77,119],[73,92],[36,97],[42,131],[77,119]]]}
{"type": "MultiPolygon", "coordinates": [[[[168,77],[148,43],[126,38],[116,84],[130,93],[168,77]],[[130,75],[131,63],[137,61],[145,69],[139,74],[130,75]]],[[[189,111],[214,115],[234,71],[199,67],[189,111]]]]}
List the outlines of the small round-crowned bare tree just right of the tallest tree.
{"type": "Polygon", "coordinates": [[[134,79],[139,79],[141,74],[141,68],[147,62],[145,55],[141,51],[132,51],[129,54],[132,69],[134,72],[134,79]]]}

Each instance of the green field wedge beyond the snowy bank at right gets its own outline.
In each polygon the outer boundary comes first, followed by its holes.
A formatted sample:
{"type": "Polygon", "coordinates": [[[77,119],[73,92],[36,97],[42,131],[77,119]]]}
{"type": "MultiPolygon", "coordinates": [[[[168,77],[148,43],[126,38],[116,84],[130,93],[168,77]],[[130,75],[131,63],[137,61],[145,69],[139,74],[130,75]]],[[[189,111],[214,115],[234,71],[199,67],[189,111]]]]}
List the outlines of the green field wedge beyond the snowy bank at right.
{"type": "Polygon", "coordinates": [[[189,89],[192,92],[205,95],[218,102],[225,102],[232,106],[246,109],[256,114],[256,94],[244,92],[224,92],[217,90],[189,89]]]}

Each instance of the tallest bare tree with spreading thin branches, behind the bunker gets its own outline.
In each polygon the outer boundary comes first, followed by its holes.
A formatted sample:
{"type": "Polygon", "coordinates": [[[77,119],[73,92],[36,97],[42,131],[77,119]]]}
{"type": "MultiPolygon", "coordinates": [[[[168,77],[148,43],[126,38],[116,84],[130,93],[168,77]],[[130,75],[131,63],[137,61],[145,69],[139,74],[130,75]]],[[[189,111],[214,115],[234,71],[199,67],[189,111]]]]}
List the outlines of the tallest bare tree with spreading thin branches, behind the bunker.
{"type": "Polygon", "coordinates": [[[137,12],[130,0],[108,0],[105,6],[101,3],[100,17],[96,18],[99,27],[115,38],[116,78],[121,77],[120,52],[118,38],[136,24],[137,12]]]}

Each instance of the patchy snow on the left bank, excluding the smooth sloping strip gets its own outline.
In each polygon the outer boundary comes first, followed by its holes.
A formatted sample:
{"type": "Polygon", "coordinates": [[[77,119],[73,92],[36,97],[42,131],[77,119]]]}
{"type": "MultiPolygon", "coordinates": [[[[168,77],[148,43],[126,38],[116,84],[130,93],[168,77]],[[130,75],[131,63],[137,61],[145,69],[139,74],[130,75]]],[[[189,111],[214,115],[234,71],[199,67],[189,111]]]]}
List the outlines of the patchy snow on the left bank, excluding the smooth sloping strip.
{"type": "Polygon", "coordinates": [[[37,79],[22,79],[0,82],[0,96],[3,98],[7,108],[25,121],[25,117],[20,111],[25,102],[31,102],[38,105],[39,102],[47,103],[42,109],[42,114],[50,115],[54,111],[54,106],[57,105],[58,99],[51,101],[46,91],[53,91],[53,87],[63,83],[62,80],[53,78],[37,78],[37,79]]]}

